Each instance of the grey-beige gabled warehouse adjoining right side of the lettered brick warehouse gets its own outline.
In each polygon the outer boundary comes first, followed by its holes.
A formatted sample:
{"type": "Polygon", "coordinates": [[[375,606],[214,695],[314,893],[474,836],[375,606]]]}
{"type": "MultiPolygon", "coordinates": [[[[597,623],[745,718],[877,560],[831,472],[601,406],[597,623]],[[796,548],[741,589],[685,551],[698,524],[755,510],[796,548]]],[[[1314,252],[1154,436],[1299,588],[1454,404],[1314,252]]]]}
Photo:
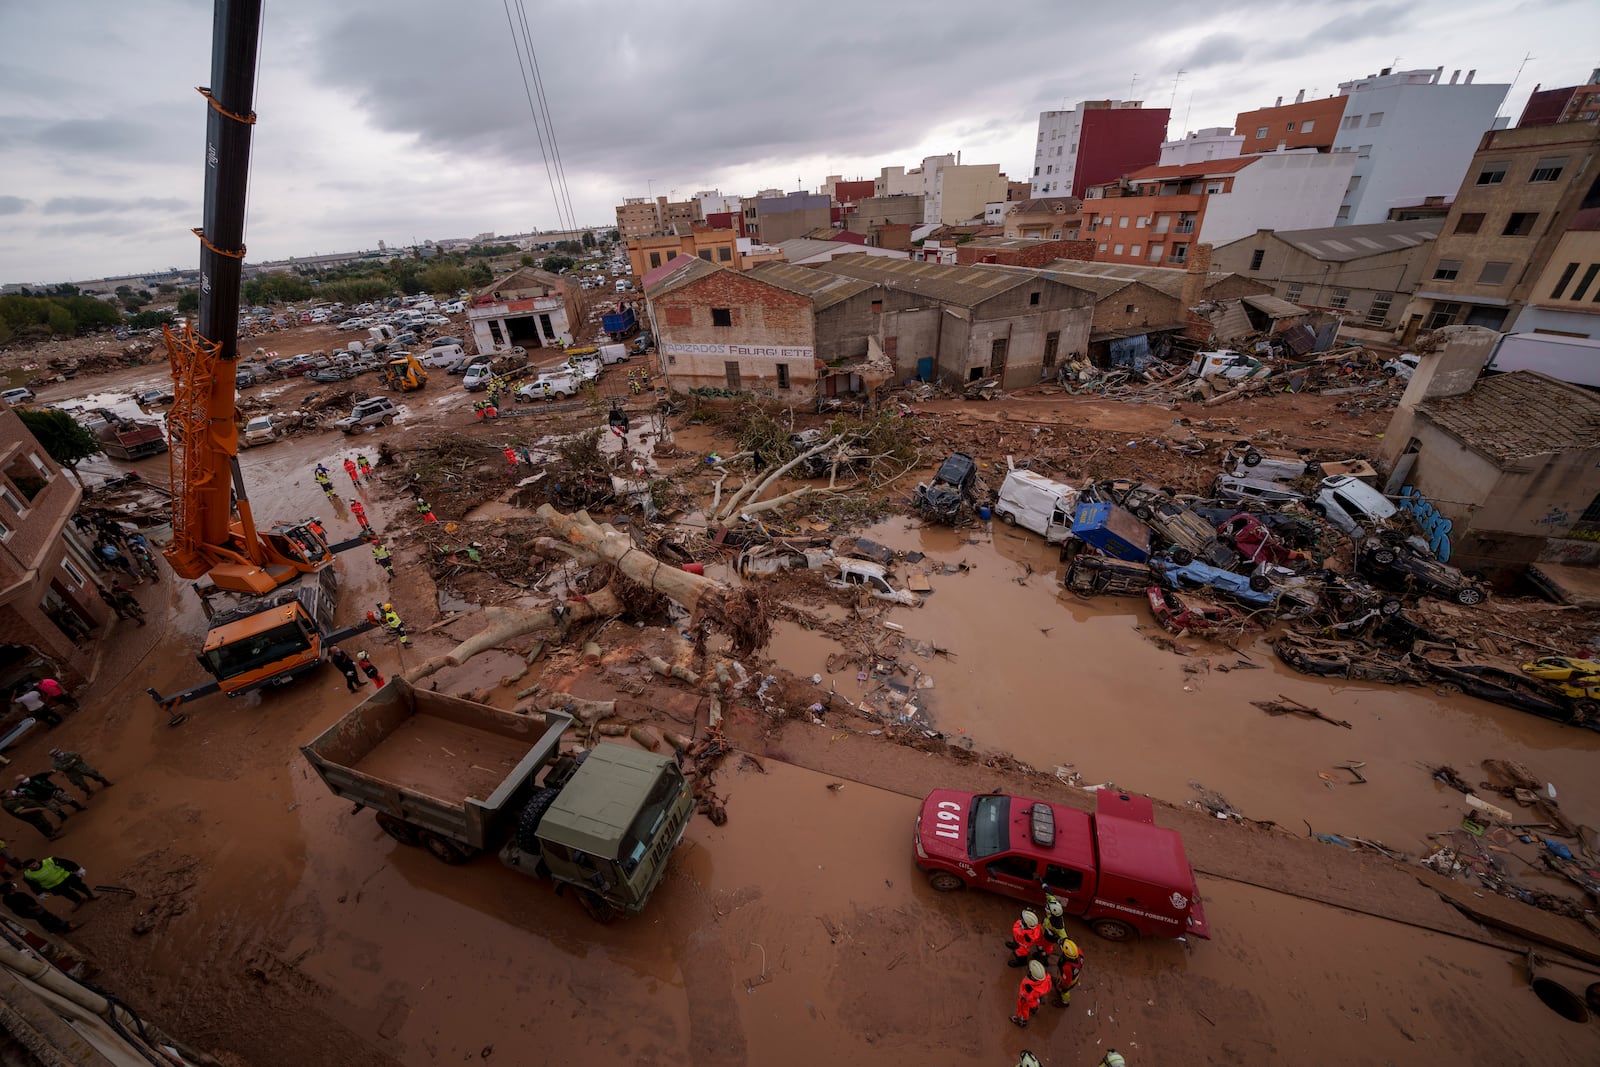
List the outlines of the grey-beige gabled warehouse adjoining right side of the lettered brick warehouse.
{"type": "Polygon", "coordinates": [[[877,336],[899,378],[1021,389],[1088,347],[1093,294],[1032,272],[870,256],[816,270],[883,288],[877,336]]]}

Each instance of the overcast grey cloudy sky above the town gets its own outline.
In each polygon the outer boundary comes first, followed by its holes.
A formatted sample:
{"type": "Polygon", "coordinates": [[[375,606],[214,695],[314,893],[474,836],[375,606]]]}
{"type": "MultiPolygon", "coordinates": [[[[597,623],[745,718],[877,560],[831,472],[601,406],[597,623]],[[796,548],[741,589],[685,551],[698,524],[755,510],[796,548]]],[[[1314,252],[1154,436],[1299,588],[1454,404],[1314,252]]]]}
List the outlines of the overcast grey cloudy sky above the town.
{"type": "MultiPolygon", "coordinates": [[[[1024,179],[1038,112],[1080,99],[1171,104],[1176,138],[1387,66],[1509,83],[1531,54],[1515,118],[1600,64],[1595,0],[523,3],[574,214],[608,226],[627,195],[938,152],[1024,179]]],[[[0,0],[0,282],[195,266],[211,3],[0,0]]],[[[502,0],[267,0],[256,112],[250,261],[560,224],[502,0]]]]}

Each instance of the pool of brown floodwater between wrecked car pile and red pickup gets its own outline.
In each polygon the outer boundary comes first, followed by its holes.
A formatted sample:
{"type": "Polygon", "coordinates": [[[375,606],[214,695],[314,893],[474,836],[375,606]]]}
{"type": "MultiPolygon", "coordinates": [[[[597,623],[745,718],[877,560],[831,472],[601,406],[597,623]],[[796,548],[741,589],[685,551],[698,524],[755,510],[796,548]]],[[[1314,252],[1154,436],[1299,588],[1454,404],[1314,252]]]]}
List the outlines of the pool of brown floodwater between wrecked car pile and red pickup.
{"type": "MultiPolygon", "coordinates": [[[[1176,654],[1150,640],[1171,643],[1144,598],[1067,592],[1058,550],[1002,523],[949,530],[894,518],[864,536],[926,553],[922,563],[899,563],[901,579],[910,569],[938,571],[931,565],[939,563],[968,568],[933,573],[923,606],[883,616],[907,638],[949,649],[930,657],[896,653],[933,680],[910,699],[928,726],[947,736],[1013,752],[1045,771],[1077,771],[1085,784],[1115,782],[1174,803],[1194,798],[1198,784],[1253,819],[1294,832],[1309,822],[1411,853],[1426,849],[1427,833],[1461,819],[1459,793],[1426,769],[1440,763],[1477,782],[1483,758],[1522,761],[1557,785],[1570,817],[1600,824],[1594,731],[1427,688],[1299,675],[1278,662],[1266,635],[1246,637],[1238,651],[1181,638],[1192,651],[1176,654]],[[1250,704],[1280,694],[1350,729],[1250,704]],[[1368,784],[1338,769],[1352,761],[1366,763],[1368,784]]],[[[776,629],[771,648],[795,673],[821,673],[859,701],[877,681],[858,680],[856,665],[830,673],[827,657],[838,651],[826,635],[792,622],[776,629]]]]}

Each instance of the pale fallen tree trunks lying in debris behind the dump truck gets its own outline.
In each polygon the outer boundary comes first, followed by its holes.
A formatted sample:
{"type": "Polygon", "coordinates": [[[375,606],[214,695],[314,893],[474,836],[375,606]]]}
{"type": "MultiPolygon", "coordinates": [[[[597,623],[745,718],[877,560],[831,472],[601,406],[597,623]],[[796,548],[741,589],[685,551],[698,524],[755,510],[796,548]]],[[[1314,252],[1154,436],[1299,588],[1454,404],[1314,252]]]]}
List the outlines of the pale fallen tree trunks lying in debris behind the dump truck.
{"type": "Polygon", "coordinates": [[[563,515],[544,504],[538,515],[555,534],[555,537],[539,537],[536,542],[539,549],[563,553],[586,566],[610,565],[614,569],[611,582],[582,598],[566,600],[542,611],[490,606],[485,609],[486,625],[482,630],[443,656],[408,670],[405,675],[408,681],[418,681],[445,667],[458,667],[478,653],[523,633],[622,614],[635,590],[618,587],[619,581],[666,597],[690,613],[690,627],[696,635],[702,638],[707,632],[723,633],[739,653],[763,648],[771,637],[771,624],[755,590],[736,589],[715,577],[691,574],[666,563],[640,549],[627,534],[594,522],[586,512],[563,515]]]}

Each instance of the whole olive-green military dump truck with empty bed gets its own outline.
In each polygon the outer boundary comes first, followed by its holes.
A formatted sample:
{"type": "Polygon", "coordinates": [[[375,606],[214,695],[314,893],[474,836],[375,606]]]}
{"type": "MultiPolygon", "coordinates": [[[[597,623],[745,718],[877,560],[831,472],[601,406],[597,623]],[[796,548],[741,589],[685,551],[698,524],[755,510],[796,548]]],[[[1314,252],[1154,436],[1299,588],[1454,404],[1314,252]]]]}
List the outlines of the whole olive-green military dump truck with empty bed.
{"type": "Polygon", "coordinates": [[[571,717],[515,712],[395,678],[301,747],[338,797],[446,864],[485,851],[554,878],[600,921],[638,913],[694,797],[672,757],[621,744],[557,757],[571,717]],[[542,777],[541,777],[542,773],[542,777]]]}

